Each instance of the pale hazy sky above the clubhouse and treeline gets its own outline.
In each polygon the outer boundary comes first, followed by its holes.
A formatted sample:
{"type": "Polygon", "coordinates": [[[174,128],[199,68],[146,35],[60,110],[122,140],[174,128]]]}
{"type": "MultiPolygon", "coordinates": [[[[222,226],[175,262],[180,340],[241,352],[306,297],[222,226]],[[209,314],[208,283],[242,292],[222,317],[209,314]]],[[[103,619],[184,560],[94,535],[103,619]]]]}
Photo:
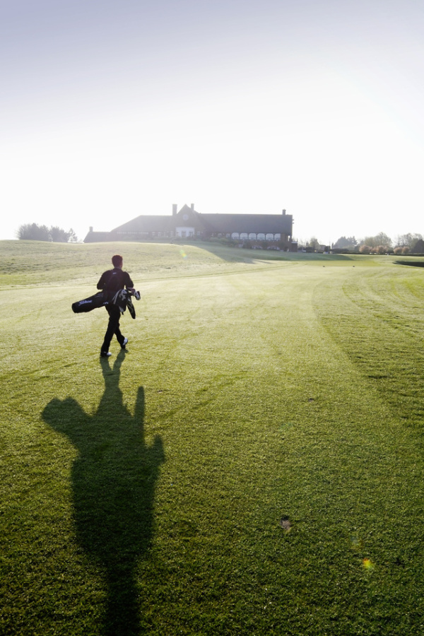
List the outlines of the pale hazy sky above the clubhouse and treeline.
{"type": "Polygon", "coordinates": [[[294,237],[424,233],[420,0],[0,7],[0,239],[172,204],[294,237]]]}

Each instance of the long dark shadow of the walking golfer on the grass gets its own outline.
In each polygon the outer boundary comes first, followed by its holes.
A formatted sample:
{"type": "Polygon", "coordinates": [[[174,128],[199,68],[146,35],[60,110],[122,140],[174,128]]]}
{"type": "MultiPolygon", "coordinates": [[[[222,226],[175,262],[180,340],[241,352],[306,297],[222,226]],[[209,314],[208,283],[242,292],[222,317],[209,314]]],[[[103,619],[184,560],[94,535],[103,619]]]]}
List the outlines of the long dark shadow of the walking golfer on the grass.
{"type": "Polygon", "coordinates": [[[45,421],[78,449],[71,473],[73,519],[78,543],[105,568],[107,636],[139,634],[136,567],[151,544],[155,484],[165,459],[159,436],[150,447],[144,441],[143,387],[134,416],[124,406],[124,358],[121,351],[113,368],[100,359],[105,392],[93,416],[72,398],[54,399],[43,411],[45,421]]]}

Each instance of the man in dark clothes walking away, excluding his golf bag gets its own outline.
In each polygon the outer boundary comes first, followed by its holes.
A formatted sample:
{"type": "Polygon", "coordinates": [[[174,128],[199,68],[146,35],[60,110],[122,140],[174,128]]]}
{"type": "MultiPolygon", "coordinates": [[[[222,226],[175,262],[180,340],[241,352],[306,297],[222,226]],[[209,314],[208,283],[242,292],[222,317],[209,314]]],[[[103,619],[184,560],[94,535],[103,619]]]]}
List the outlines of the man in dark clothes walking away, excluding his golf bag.
{"type": "MultiPolygon", "coordinates": [[[[121,348],[126,348],[128,338],[125,338],[119,329],[119,319],[121,317],[121,313],[125,311],[126,305],[122,307],[123,303],[119,304],[117,300],[119,299],[120,290],[126,289],[130,294],[135,293],[133,286],[134,283],[131,281],[129,273],[122,270],[122,256],[115,254],[112,257],[112,265],[114,266],[113,269],[104,271],[97,284],[97,288],[103,292],[104,300],[107,301],[107,305],[105,305],[105,307],[109,314],[109,322],[107,324],[105,339],[103,340],[102,348],[100,349],[101,358],[108,358],[112,355],[109,351],[109,346],[114,335],[117,336],[117,341],[121,345],[121,348]]],[[[125,292],[122,295],[125,295],[125,292]]]]}

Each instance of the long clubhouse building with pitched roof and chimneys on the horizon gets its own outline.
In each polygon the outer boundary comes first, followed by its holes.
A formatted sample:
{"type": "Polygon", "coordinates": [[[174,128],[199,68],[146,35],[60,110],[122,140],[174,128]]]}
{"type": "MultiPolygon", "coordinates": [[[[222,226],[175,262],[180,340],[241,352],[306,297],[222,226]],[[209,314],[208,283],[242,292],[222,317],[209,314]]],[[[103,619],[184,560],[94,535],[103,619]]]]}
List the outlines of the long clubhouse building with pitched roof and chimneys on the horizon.
{"type": "Polygon", "coordinates": [[[95,232],[90,228],[85,243],[100,241],[139,240],[211,240],[227,238],[233,241],[278,244],[279,249],[297,251],[292,241],[293,216],[286,214],[202,214],[184,205],[179,211],[172,206],[172,215],[141,215],[119,225],[110,232],[95,232]]]}

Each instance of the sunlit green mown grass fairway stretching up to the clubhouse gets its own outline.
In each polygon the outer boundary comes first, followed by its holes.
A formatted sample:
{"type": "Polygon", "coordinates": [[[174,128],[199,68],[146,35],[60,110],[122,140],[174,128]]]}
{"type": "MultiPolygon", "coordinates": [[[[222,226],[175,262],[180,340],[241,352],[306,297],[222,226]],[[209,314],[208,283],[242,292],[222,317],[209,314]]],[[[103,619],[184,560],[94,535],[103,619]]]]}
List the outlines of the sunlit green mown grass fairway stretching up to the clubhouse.
{"type": "Polygon", "coordinates": [[[0,251],[2,635],[424,633],[423,268],[0,251]]]}

